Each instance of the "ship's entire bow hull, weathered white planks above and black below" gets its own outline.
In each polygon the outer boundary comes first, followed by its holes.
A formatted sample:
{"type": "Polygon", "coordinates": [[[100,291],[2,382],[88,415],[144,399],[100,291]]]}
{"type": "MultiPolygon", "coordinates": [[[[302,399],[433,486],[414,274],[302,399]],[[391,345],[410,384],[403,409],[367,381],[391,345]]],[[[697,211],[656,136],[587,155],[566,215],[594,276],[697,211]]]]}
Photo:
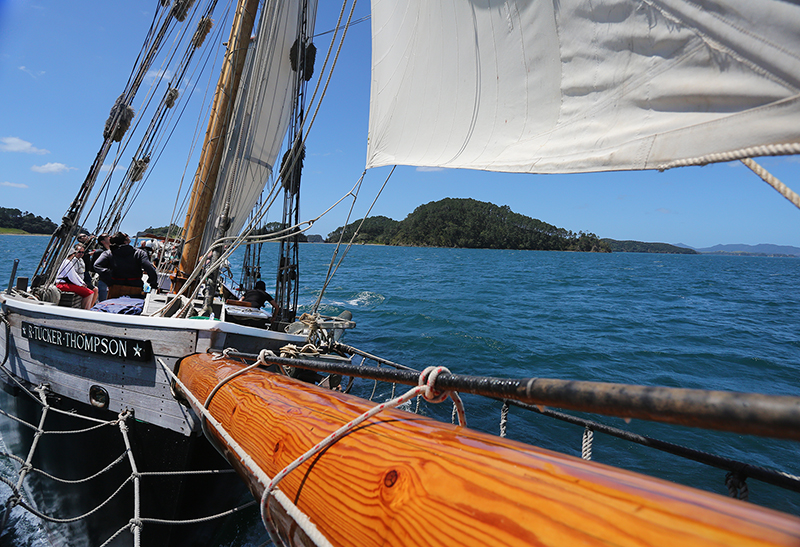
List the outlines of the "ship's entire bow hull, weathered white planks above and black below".
{"type": "MultiPolygon", "coordinates": [[[[130,454],[138,472],[230,470],[202,436],[196,414],[173,396],[165,367],[173,369],[180,358],[196,352],[227,347],[257,352],[305,340],[220,321],[115,315],[6,295],[0,295],[0,304],[4,387],[17,395],[17,410],[25,421],[39,423],[42,407],[25,392],[38,386],[45,388],[48,404],[54,409],[107,421],[130,413],[126,421],[130,454]]],[[[54,409],[48,411],[45,431],[95,425],[54,409]]],[[[27,441],[24,453],[17,455],[25,458],[33,435],[27,427],[20,429],[27,441]]],[[[68,544],[79,544],[80,538],[88,538],[88,545],[102,544],[134,518],[131,463],[116,425],[40,437],[34,467],[56,477],[75,480],[92,476],[120,456],[124,457],[113,469],[82,484],[59,485],[39,475],[31,478],[38,503],[59,518],[94,509],[128,480],[97,513],[75,523],[50,525],[54,534],[71,536],[68,544]]],[[[249,501],[246,487],[233,473],[143,476],[139,490],[141,518],[197,519],[249,501]]],[[[142,545],[205,544],[221,522],[177,526],[145,522],[142,545]]],[[[132,534],[123,532],[113,545],[133,545],[132,534]]]]}

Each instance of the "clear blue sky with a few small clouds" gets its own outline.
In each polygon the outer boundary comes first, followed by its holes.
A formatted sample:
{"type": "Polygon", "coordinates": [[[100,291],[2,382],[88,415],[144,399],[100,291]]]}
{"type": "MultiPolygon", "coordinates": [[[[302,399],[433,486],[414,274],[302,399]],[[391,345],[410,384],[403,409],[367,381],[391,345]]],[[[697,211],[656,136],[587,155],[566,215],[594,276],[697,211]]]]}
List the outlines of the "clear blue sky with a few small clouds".
{"type": "MultiPolygon", "coordinates": [[[[97,154],[103,124],[127,81],[156,2],[0,0],[0,206],[53,220],[64,214],[97,154]]],[[[335,2],[321,4],[318,33],[332,28],[338,13],[335,2]]],[[[355,18],[366,15],[368,7],[360,0],[355,18]]],[[[317,39],[320,57],[329,39],[329,34],[317,39]]],[[[353,27],[307,141],[304,218],[317,216],[344,195],[363,170],[369,46],[369,22],[353,27]]],[[[758,161],[800,191],[800,159],[758,161]]],[[[185,164],[186,153],[160,161],[164,175],[150,176],[123,229],[166,224],[185,164]]],[[[355,215],[364,214],[388,172],[380,168],[367,174],[355,215]]],[[[700,248],[800,247],[800,210],[738,162],[665,173],[584,175],[399,167],[371,214],[402,220],[417,206],[445,197],[508,205],[559,227],[614,239],[700,248]]],[[[327,235],[346,215],[347,206],[340,206],[309,233],[327,235]]],[[[276,212],[271,220],[279,216],[276,212]]]]}

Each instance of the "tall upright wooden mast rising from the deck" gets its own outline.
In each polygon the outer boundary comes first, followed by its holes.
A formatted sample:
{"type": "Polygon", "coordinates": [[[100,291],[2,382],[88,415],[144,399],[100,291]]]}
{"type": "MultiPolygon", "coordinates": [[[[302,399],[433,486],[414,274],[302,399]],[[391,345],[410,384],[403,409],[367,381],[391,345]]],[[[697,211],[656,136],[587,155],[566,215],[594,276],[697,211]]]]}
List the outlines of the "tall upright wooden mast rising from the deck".
{"type": "Polygon", "coordinates": [[[214,94],[214,103],[211,108],[211,117],[208,120],[200,164],[195,174],[189,208],[186,211],[186,221],[183,225],[186,243],[183,246],[181,262],[176,275],[176,289],[180,288],[185,281],[185,276],[191,273],[197,265],[203,230],[209,221],[211,198],[216,190],[217,175],[225,144],[225,130],[230,122],[230,111],[239,89],[257,8],[258,0],[239,0],[236,8],[231,35],[228,39],[228,49],[214,94]]]}

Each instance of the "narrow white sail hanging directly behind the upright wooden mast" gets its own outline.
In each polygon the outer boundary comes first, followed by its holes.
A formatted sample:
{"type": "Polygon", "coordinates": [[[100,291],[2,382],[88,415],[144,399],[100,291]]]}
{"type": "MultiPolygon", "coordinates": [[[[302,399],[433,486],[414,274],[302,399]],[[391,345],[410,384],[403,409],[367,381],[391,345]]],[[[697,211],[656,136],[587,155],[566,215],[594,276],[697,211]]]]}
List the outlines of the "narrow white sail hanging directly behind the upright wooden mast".
{"type": "MultiPolygon", "coordinates": [[[[299,0],[271,0],[262,8],[262,24],[255,48],[248,54],[233,123],[225,138],[225,158],[202,249],[214,237],[214,221],[226,200],[231,204],[228,234],[237,234],[273,174],[295,95],[296,72],[289,51],[299,32],[300,4],[299,0]]],[[[308,4],[306,33],[313,36],[317,3],[308,4]]]]}

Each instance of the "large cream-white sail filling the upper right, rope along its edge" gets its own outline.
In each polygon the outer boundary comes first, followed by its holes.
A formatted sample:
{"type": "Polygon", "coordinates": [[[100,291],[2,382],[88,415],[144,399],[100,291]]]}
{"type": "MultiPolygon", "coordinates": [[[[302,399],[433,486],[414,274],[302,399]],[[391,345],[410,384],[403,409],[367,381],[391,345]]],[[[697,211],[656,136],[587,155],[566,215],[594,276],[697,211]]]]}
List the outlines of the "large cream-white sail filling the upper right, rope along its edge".
{"type": "Polygon", "coordinates": [[[800,142],[797,3],[372,5],[367,167],[653,169],[800,142]]]}

